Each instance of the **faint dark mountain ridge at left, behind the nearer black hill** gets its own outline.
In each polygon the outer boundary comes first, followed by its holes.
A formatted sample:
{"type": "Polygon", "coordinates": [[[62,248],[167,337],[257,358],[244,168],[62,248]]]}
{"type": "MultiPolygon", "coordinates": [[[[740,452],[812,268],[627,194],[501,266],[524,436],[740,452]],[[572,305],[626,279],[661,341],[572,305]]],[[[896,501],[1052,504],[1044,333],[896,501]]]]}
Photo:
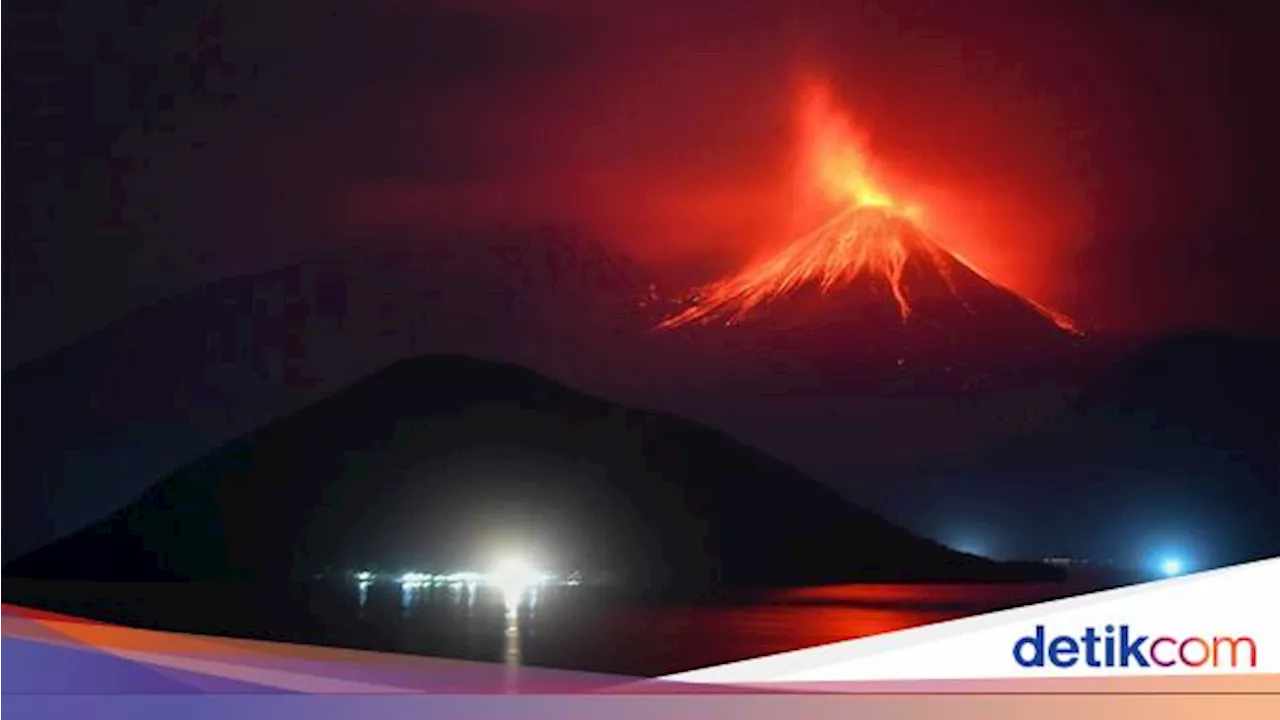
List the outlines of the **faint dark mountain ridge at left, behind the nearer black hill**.
{"type": "Polygon", "coordinates": [[[654,322],[635,316],[652,313],[648,284],[571,231],[442,233],[412,254],[303,263],[137,310],[0,374],[0,561],[402,357],[590,378],[654,322]],[[588,342],[590,355],[566,351],[588,342]]]}

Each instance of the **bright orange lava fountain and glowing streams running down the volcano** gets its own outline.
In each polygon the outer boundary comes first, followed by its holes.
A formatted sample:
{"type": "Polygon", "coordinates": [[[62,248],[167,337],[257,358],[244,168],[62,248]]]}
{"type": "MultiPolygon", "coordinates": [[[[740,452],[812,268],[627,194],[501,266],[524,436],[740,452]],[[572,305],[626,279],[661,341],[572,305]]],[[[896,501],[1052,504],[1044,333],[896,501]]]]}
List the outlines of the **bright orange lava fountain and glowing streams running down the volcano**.
{"type": "MultiPolygon", "coordinates": [[[[955,266],[966,268],[1009,291],[955,252],[943,249],[925,232],[922,210],[915,205],[899,202],[877,181],[864,142],[820,86],[812,86],[804,96],[800,131],[804,160],[801,172],[809,190],[817,191],[827,208],[829,219],[797,237],[776,255],[698,290],[691,304],[663,320],[659,328],[709,320],[733,324],[756,307],[801,286],[815,283],[823,292],[828,292],[860,275],[879,278],[887,283],[905,322],[911,315],[905,273],[913,260],[933,268],[952,293],[955,286],[951,277],[955,266]]],[[[1065,315],[1014,295],[1062,331],[1079,333],[1065,315]]]]}

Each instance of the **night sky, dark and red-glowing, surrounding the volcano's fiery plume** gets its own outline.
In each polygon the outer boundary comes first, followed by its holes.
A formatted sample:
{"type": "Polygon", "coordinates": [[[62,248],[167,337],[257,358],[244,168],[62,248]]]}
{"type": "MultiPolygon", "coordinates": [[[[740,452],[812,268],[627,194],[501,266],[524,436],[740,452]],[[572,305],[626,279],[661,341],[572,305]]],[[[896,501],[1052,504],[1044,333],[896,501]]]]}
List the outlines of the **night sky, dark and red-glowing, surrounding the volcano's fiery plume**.
{"type": "Polygon", "coordinates": [[[0,363],[228,274],[412,250],[442,223],[745,256],[777,234],[803,73],[836,85],[897,187],[1019,291],[1094,328],[1280,328],[1265,10],[689,5],[15,13],[58,56],[13,61],[0,363]]]}

